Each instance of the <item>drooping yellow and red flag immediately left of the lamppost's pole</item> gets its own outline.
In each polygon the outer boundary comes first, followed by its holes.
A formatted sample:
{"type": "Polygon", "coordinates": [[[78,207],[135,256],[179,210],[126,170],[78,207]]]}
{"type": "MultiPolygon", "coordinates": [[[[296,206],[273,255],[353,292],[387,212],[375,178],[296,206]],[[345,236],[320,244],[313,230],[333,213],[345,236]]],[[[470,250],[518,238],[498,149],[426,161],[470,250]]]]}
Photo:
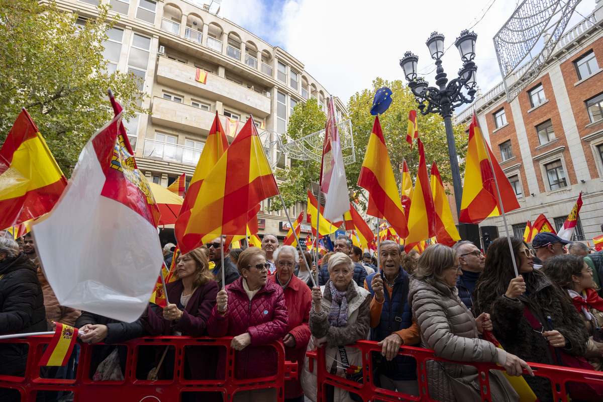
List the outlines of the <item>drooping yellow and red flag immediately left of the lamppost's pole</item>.
{"type": "Polygon", "coordinates": [[[446,197],[446,190],[444,190],[444,184],[440,177],[440,171],[434,164],[431,166],[431,193],[434,196],[435,206],[435,237],[438,239],[438,243],[452,247],[458,240],[461,240],[461,236],[458,234],[454,218],[452,218],[452,211],[450,210],[450,204],[446,197]]]}

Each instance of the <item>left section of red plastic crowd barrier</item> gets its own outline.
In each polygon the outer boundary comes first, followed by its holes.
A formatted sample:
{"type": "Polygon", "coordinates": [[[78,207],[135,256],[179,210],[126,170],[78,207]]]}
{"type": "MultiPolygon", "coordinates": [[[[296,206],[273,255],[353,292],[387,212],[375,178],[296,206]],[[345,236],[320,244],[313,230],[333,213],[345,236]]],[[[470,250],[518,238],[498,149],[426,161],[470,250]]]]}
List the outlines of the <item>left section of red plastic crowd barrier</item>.
{"type": "MultiPolygon", "coordinates": [[[[278,372],[276,375],[262,378],[238,379],[234,374],[236,353],[230,347],[232,337],[225,338],[191,338],[189,336],[158,336],[156,338],[139,338],[125,342],[123,347],[127,348],[124,380],[121,381],[94,381],[90,375],[90,362],[95,348],[104,347],[103,344],[81,346],[80,359],[77,366],[76,378],[74,380],[61,380],[40,377],[40,367],[37,363],[42,357],[43,349],[49,344],[52,335],[30,336],[27,338],[8,339],[0,341],[4,344],[28,344],[29,353],[27,367],[24,377],[13,377],[0,375],[0,388],[15,389],[21,394],[22,402],[34,402],[36,392],[46,391],[72,391],[74,402],[167,402],[180,401],[182,394],[193,392],[197,400],[206,400],[205,396],[212,393],[214,397],[218,392],[224,396],[224,401],[230,402],[233,395],[239,391],[253,389],[276,389],[277,401],[284,400],[285,381],[297,378],[297,362],[285,361],[285,348],[280,341],[268,344],[277,351],[278,372]],[[172,363],[174,365],[174,377],[172,380],[149,381],[146,378],[137,378],[137,364],[142,355],[152,354],[151,362],[156,356],[156,350],[163,351],[165,347],[173,347],[172,363]],[[186,375],[185,365],[187,359],[194,356],[195,348],[202,351],[203,348],[218,348],[222,356],[226,354],[226,369],[221,376],[226,378],[216,380],[194,380],[191,375],[186,375]],[[140,356],[139,356],[140,355],[140,356]],[[188,356],[187,356],[188,355],[188,356]],[[186,378],[189,377],[189,378],[186,378]],[[207,394],[206,394],[207,393],[207,394]]],[[[214,349],[215,350],[215,349],[214,349]]],[[[203,365],[201,359],[195,359],[194,363],[203,365]]],[[[166,362],[168,357],[166,357],[166,362]]],[[[98,363],[98,362],[97,362],[98,363]]],[[[166,363],[164,363],[166,364],[166,363]]],[[[216,369],[217,371],[217,369],[216,369]]],[[[217,375],[216,375],[217,376],[217,375]]],[[[193,398],[195,398],[193,397],[193,398]]],[[[217,400],[221,400],[218,397],[217,400]]]]}

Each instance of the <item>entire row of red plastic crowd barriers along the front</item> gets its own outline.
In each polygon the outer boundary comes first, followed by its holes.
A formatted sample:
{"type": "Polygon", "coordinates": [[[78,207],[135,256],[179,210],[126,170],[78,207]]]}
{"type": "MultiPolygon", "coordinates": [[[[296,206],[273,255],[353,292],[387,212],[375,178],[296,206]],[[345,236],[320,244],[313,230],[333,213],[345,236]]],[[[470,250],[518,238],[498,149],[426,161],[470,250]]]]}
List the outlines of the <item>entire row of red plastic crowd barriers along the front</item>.
{"type": "MultiPolygon", "coordinates": [[[[33,402],[36,400],[38,391],[72,391],[74,392],[74,402],[107,402],[134,401],[134,402],[166,402],[180,401],[184,394],[192,393],[207,399],[210,394],[220,394],[220,398],[230,402],[236,392],[252,389],[273,388],[276,394],[276,400],[282,402],[284,398],[283,387],[285,381],[289,378],[297,378],[297,363],[285,361],[285,350],[282,343],[272,342],[278,355],[279,371],[276,375],[262,378],[238,379],[235,377],[233,367],[236,362],[237,352],[230,347],[232,338],[190,338],[188,336],[160,336],[157,338],[140,338],[120,344],[125,348],[125,374],[121,381],[94,381],[92,380],[90,365],[92,363],[95,348],[103,348],[105,345],[81,345],[81,354],[78,362],[77,373],[74,380],[55,380],[51,378],[40,377],[40,367],[37,365],[43,353],[43,348],[49,343],[51,335],[31,336],[21,339],[10,339],[0,341],[2,343],[28,344],[30,347],[28,354],[27,369],[24,377],[12,377],[9,375],[0,375],[0,388],[12,388],[21,394],[23,402],[33,402]],[[171,347],[173,354],[168,354],[166,362],[171,359],[168,366],[173,365],[174,375],[172,379],[149,381],[146,378],[140,378],[141,370],[138,365],[141,360],[150,357],[150,361],[155,360],[156,351],[163,351],[163,347],[171,347]],[[200,380],[191,378],[187,373],[186,364],[188,359],[195,356],[195,350],[199,348],[219,348],[220,352],[226,356],[226,369],[222,375],[223,379],[200,380]]],[[[434,351],[415,347],[402,347],[399,354],[414,357],[417,360],[417,374],[420,389],[420,396],[400,394],[399,392],[387,391],[378,388],[373,381],[373,359],[371,354],[380,353],[381,348],[377,347],[377,342],[359,341],[350,347],[359,348],[362,352],[362,370],[364,374],[364,383],[359,384],[346,380],[346,378],[329,374],[326,371],[324,349],[318,349],[315,352],[309,352],[310,369],[317,373],[318,401],[327,402],[326,386],[332,385],[336,388],[345,389],[359,395],[364,402],[369,400],[380,400],[384,402],[406,401],[433,401],[429,397],[428,378],[425,363],[429,360],[439,360],[441,362],[452,362],[451,360],[441,359],[435,356],[434,351]]],[[[98,362],[96,362],[98,363],[98,362]]],[[[456,362],[458,363],[458,362],[456,362]]],[[[195,364],[203,362],[195,359],[195,364]]],[[[482,387],[482,401],[490,401],[490,386],[488,384],[488,370],[501,369],[492,363],[467,363],[466,365],[475,366],[479,372],[479,382],[482,387]]],[[[571,369],[558,366],[542,365],[531,363],[534,374],[547,377],[551,380],[551,387],[555,401],[568,401],[566,397],[566,383],[570,381],[587,382],[593,384],[603,384],[603,372],[571,369]]],[[[200,398],[197,398],[199,400],[200,398]]],[[[493,401],[496,402],[496,401],[493,401]]]]}

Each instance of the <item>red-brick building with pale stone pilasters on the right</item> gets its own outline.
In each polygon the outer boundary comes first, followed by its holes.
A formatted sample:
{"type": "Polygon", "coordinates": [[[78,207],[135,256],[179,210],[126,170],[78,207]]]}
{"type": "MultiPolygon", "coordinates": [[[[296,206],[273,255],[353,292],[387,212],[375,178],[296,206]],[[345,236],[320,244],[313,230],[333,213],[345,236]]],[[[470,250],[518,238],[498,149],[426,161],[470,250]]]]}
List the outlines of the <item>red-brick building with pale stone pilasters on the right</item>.
{"type": "MultiPolygon", "coordinates": [[[[521,208],[507,214],[516,236],[544,213],[563,226],[582,192],[575,240],[589,241],[603,224],[603,2],[567,31],[545,68],[507,102],[504,84],[479,94],[456,116],[475,110],[482,131],[521,208]]],[[[488,218],[504,235],[502,217],[488,218]]]]}

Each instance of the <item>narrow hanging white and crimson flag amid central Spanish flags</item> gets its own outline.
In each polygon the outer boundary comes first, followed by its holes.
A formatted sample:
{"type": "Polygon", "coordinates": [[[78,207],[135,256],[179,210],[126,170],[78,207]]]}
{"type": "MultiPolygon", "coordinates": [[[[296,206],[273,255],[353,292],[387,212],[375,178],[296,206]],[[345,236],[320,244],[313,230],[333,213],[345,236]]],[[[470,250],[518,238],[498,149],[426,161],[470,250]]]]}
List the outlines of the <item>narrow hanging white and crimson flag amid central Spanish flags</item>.
{"type": "Polygon", "coordinates": [[[346,171],[335,119],[333,97],[329,99],[329,113],[324,129],[323,161],[320,166],[320,186],[326,195],[323,216],[329,221],[341,221],[341,215],[350,210],[346,171]]]}

